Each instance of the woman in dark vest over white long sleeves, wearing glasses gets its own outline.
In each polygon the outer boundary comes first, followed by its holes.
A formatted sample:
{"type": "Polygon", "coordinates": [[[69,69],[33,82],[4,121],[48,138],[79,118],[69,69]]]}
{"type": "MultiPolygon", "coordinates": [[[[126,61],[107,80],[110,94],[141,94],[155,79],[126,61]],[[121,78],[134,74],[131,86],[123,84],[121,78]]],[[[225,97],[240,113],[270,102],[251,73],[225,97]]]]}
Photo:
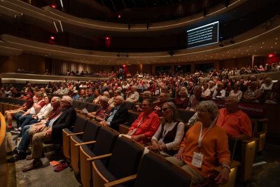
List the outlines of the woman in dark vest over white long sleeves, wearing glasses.
{"type": "Polygon", "coordinates": [[[167,102],[162,106],[163,122],[153,136],[148,148],[162,155],[174,155],[184,134],[184,124],[179,119],[175,104],[167,102]]]}

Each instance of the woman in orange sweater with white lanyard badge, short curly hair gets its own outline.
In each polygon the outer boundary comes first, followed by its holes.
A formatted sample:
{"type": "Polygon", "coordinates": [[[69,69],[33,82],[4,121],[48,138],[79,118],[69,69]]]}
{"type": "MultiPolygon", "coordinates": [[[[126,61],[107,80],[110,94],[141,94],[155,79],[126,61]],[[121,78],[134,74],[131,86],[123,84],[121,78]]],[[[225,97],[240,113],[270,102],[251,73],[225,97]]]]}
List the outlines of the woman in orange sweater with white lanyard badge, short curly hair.
{"type": "Polygon", "coordinates": [[[225,184],[230,173],[230,151],[228,136],[216,126],[218,107],[213,101],[200,102],[197,107],[197,123],[190,127],[180,149],[167,160],[190,173],[193,184],[202,184],[214,167],[223,168],[216,176],[216,183],[225,184]]]}

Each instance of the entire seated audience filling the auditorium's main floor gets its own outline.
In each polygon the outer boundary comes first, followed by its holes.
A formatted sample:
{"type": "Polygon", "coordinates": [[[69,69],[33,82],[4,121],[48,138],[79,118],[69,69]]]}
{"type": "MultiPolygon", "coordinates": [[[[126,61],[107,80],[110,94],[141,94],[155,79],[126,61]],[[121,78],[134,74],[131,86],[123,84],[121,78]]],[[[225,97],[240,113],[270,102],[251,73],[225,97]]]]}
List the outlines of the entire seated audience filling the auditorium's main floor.
{"type": "Polygon", "coordinates": [[[119,131],[120,125],[127,124],[131,109],[139,116],[128,127],[126,137],[179,165],[192,176],[193,185],[207,183],[218,166],[222,169],[214,176],[216,183],[227,183],[232,162],[228,139],[252,137],[251,120],[238,108],[239,102],[280,103],[280,81],[272,81],[267,74],[260,80],[231,76],[246,71],[279,71],[278,64],[272,67],[214,70],[207,75],[138,74],[123,81],[115,76],[108,81],[50,82],[44,86],[26,83],[20,89],[5,85],[0,90],[2,97],[25,100],[18,109],[5,111],[8,129],[14,117],[21,137],[8,162],[31,160],[22,172],[41,167],[43,143],[61,144],[62,129],[74,125],[76,112],[119,131]],[[90,113],[86,109],[75,111],[73,101],[99,107],[90,113]],[[218,109],[215,101],[224,101],[225,108],[218,109]],[[177,109],[195,113],[186,120],[188,130],[177,109]],[[31,155],[27,156],[29,141],[31,155]]]}

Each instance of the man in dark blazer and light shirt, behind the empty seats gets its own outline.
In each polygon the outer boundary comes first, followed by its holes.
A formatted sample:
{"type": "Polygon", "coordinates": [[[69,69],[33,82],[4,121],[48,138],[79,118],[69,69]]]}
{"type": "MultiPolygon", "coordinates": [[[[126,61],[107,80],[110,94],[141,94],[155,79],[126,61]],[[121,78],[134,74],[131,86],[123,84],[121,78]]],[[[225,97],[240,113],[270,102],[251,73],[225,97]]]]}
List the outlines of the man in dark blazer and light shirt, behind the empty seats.
{"type": "Polygon", "coordinates": [[[120,95],[115,97],[114,104],[115,107],[113,107],[111,115],[100,123],[102,126],[109,125],[114,130],[118,130],[119,125],[127,121],[128,113],[125,104],[123,104],[123,97],[120,95]]]}

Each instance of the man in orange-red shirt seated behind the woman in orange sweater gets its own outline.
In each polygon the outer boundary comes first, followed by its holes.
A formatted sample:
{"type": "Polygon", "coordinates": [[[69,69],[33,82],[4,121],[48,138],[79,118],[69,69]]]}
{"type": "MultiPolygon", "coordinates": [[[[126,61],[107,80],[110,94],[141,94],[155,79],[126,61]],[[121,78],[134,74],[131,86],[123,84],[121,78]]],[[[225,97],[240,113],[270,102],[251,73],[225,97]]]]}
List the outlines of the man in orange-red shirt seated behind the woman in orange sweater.
{"type": "Polygon", "coordinates": [[[235,96],[225,99],[225,108],[218,112],[217,125],[225,130],[228,137],[234,139],[250,139],[252,136],[251,120],[238,109],[238,98],[235,96]]]}

